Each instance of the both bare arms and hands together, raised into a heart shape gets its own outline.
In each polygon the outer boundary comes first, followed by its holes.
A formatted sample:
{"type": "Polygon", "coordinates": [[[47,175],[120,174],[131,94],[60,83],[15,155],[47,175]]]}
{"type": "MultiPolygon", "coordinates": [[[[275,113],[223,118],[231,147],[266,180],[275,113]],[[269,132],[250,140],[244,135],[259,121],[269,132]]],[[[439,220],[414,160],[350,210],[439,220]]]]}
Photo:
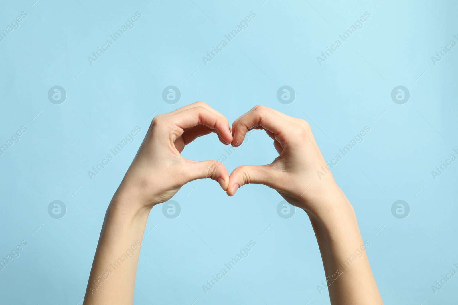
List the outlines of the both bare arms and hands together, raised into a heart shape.
{"type": "Polygon", "coordinates": [[[364,242],[353,207],[331,172],[317,175],[317,171],[323,171],[322,166],[327,168],[309,124],[264,106],[246,112],[232,128],[227,118],[204,102],[153,118],[109,203],[84,305],[132,304],[140,253],[136,245],[142,241],[149,212],[154,205],[172,198],[187,182],[201,178],[215,180],[229,196],[245,184],[264,184],[304,209],[321,251],[331,304],[383,304],[362,250],[364,242]],[[239,146],[251,129],[263,129],[273,139],[279,155],[272,163],[243,165],[229,175],[217,161],[191,161],[180,155],[186,144],[210,132],[224,144],[239,146]],[[362,255],[345,265],[357,250],[362,255]],[[112,264],[126,251],[129,255],[114,269],[112,264]]]}

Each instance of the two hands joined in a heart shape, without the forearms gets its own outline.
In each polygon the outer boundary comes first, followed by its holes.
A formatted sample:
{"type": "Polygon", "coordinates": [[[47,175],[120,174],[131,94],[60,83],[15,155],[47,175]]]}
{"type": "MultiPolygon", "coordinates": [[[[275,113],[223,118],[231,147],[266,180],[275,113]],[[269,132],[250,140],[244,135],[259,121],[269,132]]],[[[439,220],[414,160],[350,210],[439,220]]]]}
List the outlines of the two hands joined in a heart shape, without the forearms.
{"type": "Polygon", "coordinates": [[[295,202],[307,196],[302,197],[312,184],[322,189],[325,181],[333,181],[330,172],[324,178],[316,176],[323,166],[327,166],[326,162],[304,120],[256,106],[230,127],[221,113],[204,102],[196,102],[153,118],[129,176],[142,185],[154,186],[144,188],[147,202],[164,202],[184,184],[201,178],[218,181],[229,196],[245,184],[258,183],[295,202]],[[267,165],[242,165],[229,175],[221,162],[193,161],[181,156],[185,145],[203,135],[216,133],[223,144],[238,147],[253,129],[263,129],[273,139],[278,156],[267,165]]]}

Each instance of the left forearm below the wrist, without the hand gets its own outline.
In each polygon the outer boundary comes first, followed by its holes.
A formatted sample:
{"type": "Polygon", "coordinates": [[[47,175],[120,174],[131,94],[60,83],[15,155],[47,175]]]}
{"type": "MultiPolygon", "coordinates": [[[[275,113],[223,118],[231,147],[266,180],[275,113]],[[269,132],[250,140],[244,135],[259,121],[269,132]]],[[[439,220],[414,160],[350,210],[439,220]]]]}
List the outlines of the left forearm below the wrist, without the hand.
{"type": "Polygon", "coordinates": [[[140,245],[150,209],[115,194],[100,233],[84,305],[132,304],[140,245]]]}

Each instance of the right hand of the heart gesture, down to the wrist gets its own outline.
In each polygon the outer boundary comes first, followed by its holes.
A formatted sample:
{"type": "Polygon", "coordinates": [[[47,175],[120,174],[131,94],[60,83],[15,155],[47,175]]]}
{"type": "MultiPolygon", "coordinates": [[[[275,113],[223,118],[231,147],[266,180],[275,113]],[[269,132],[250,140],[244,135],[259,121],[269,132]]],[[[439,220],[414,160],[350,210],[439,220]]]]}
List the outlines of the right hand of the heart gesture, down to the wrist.
{"type": "Polygon", "coordinates": [[[289,203],[313,211],[317,198],[340,189],[316,145],[310,126],[304,120],[289,117],[264,106],[256,106],[232,124],[233,146],[239,146],[251,129],[264,129],[273,139],[278,157],[267,165],[239,166],[230,174],[227,193],[233,196],[239,187],[261,183],[274,188],[289,203]],[[317,172],[325,173],[324,176],[317,172]]]}

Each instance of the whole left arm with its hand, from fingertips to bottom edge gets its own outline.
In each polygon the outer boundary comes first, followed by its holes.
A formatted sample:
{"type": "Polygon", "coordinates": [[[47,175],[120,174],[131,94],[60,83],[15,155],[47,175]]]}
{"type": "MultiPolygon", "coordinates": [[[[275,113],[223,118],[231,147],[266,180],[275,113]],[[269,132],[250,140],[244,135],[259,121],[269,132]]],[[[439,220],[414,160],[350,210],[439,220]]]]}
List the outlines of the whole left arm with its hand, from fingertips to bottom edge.
{"type": "Polygon", "coordinates": [[[191,161],[180,153],[197,137],[216,132],[232,141],[229,122],[204,102],[153,119],[105,215],[84,305],[132,304],[140,245],[148,214],[185,183],[212,178],[226,190],[229,174],[217,161],[191,161]]]}

